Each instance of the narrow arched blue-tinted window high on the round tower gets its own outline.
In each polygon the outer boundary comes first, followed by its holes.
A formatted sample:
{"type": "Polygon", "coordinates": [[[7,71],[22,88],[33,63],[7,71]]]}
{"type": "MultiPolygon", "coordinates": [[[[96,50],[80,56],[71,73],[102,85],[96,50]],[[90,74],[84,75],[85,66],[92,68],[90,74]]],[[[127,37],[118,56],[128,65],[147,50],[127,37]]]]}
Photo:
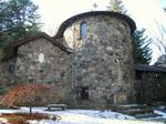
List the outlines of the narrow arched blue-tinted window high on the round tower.
{"type": "Polygon", "coordinates": [[[86,33],[87,33],[87,23],[82,22],[81,25],[80,25],[80,38],[81,39],[86,38],[86,33]]]}

